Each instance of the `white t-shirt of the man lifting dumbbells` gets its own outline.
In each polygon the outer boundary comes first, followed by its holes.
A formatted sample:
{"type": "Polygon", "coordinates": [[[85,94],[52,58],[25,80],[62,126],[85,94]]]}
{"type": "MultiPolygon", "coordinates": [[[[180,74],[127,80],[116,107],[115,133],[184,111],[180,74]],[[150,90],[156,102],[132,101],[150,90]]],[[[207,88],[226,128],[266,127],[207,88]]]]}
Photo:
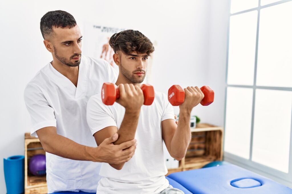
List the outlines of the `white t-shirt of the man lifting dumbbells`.
{"type": "MultiPolygon", "coordinates": [[[[109,126],[116,126],[119,130],[124,114],[125,108],[117,102],[112,106],[103,104],[100,94],[88,100],[87,123],[92,134],[109,126]]],[[[161,130],[161,122],[166,119],[174,119],[173,107],[165,94],[155,92],[153,104],[141,108],[134,156],[121,170],[102,163],[98,194],[156,194],[169,186],[165,178],[167,168],[161,130]]]]}

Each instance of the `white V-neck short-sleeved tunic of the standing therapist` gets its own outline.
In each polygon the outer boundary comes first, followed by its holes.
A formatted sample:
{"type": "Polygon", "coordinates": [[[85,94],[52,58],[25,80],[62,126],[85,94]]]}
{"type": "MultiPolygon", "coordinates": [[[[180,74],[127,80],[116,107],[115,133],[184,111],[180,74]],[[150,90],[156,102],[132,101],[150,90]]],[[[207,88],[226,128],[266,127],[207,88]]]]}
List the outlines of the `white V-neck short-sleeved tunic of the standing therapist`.
{"type": "MultiPolygon", "coordinates": [[[[88,99],[100,93],[104,82],[115,83],[117,75],[102,59],[82,56],[77,88],[48,63],[27,84],[25,104],[31,116],[31,135],[43,127],[56,127],[57,134],[79,144],[96,147],[86,122],[88,99]]],[[[101,163],[77,161],[46,153],[48,193],[95,192],[101,163]]]]}

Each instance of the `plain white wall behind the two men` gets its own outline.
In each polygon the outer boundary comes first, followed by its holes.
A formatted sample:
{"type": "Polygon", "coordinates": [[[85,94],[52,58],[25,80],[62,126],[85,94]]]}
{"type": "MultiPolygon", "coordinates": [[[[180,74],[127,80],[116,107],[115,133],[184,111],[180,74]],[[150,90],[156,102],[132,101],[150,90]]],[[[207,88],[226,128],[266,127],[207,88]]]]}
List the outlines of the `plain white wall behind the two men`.
{"type": "Polygon", "coordinates": [[[150,83],[165,93],[173,84],[211,86],[215,102],[209,107],[198,105],[193,114],[202,122],[223,125],[228,0],[138,2],[0,2],[0,193],[6,191],[2,158],[23,155],[24,133],[30,130],[23,90],[51,61],[39,29],[41,17],[51,10],[71,13],[81,32],[84,22],[92,22],[136,29],[157,40],[150,83]]]}

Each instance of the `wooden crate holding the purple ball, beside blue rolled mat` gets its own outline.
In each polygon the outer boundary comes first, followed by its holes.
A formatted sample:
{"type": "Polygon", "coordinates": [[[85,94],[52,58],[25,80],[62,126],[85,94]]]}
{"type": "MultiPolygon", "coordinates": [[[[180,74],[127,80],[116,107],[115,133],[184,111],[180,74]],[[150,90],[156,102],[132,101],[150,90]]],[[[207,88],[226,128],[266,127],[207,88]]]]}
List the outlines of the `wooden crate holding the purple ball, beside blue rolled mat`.
{"type": "Polygon", "coordinates": [[[25,133],[24,140],[25,154],[25,172],[24,172],[24,189],[25,194],[45,194],[48,193],[46,175],[37,177],[28,172],[27,165],[32,156],[36,154],[46,154],[38,138],[25,133]]]}

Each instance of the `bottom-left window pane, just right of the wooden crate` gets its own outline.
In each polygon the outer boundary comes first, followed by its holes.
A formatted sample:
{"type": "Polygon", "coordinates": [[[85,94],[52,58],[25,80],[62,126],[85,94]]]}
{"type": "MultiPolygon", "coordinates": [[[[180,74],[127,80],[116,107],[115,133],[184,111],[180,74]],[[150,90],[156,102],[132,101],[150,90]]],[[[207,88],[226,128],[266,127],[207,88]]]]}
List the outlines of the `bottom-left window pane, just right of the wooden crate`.
{"type": "Polygon", "coordinates": [[[249,159],[253,89],[227,88],[224,151],[249,159]]]}

